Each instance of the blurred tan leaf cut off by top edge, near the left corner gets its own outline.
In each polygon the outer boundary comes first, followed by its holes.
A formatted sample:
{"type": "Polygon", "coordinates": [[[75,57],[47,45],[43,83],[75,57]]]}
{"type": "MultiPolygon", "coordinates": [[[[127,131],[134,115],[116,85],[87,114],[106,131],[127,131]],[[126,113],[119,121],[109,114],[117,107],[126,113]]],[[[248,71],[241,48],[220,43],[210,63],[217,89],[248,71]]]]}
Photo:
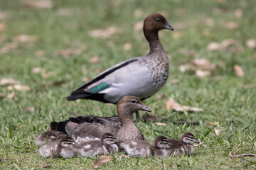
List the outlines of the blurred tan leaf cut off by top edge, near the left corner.
{"type": "Polygon", "coordinates": [[[32,8],[53,8],[54,6],[51,0],[26,0],[24,4],[32,8]]]}

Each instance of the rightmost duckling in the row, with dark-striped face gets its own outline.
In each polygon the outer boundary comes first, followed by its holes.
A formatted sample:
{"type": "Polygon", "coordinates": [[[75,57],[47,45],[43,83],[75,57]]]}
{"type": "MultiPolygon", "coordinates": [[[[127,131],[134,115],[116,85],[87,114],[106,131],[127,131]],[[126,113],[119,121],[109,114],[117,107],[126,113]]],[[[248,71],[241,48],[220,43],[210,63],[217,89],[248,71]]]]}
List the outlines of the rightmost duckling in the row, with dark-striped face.
{"type": "Polygon", "coordinates": [[[193,143],[199,143],[191,132],[185,132],[181,140],[169,139],[169,142],[173,145],[171,154],[174,156],[178,154],[192,154],[194,150],[193,143]]]}

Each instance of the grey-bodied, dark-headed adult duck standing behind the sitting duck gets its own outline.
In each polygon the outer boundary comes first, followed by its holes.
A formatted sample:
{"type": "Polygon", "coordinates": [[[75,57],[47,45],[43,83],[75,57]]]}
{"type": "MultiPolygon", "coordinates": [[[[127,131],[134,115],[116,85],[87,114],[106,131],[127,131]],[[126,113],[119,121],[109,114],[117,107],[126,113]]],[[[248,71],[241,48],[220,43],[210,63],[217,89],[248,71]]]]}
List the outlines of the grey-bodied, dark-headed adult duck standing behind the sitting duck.
{"type": "MultiPolygon", "coordinates": [[[[116,104],[128,95],[137,96],[141,100],[154,95],[164,86],[169,75],[169,58],[158,35],[162,29],[174,30],[161,14],[147,16],[143,31],[149,42],[149,53],[106,69],[73,91],[67,100],[83,98],[116,104]]],[[[139,112],[136,115],[139,118],[139,112]]]]}

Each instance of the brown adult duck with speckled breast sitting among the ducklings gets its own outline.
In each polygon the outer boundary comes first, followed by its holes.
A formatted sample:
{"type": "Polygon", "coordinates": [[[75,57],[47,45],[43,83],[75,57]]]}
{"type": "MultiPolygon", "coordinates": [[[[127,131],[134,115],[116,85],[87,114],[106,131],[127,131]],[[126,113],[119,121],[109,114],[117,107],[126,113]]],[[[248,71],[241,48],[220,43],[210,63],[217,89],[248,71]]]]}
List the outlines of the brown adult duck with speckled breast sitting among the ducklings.
{"type": "Polygon", "coordinates": [[[122,142],[127,139],[144,140],[144,135],[132,120],[132,115],[136,111],[151,110],[135,96],[124,96],[117,103],[116,117],[100,118],[97,116],[84,116],[70,118],[64,122],[58,123],[58,130],[68,133],[70,137],[97,137],[101,138],[104,133],[111,133],[114,137],[122,142]],[[79,124],[79,120],[85,122],[79,124]]]}

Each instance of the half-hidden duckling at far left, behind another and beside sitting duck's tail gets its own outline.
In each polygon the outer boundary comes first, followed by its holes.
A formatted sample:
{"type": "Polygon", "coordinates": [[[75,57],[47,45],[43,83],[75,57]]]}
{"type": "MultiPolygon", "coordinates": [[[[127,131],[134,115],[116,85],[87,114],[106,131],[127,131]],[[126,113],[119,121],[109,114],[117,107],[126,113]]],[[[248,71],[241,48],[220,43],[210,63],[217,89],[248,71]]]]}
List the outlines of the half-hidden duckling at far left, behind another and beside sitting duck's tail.
{"type": "Polygon", "coordinates": [[[61,134],[61,132],[57,131],[57,125],[57,122],[51,122],[50,130],[42,132],[40,135],[36,137],[35,143],[36,145],[38,145],[38,147],[41,147],[42,145],[45,145],[48,142],[53,142],[57,139],[58,135],[61,134]]]}

